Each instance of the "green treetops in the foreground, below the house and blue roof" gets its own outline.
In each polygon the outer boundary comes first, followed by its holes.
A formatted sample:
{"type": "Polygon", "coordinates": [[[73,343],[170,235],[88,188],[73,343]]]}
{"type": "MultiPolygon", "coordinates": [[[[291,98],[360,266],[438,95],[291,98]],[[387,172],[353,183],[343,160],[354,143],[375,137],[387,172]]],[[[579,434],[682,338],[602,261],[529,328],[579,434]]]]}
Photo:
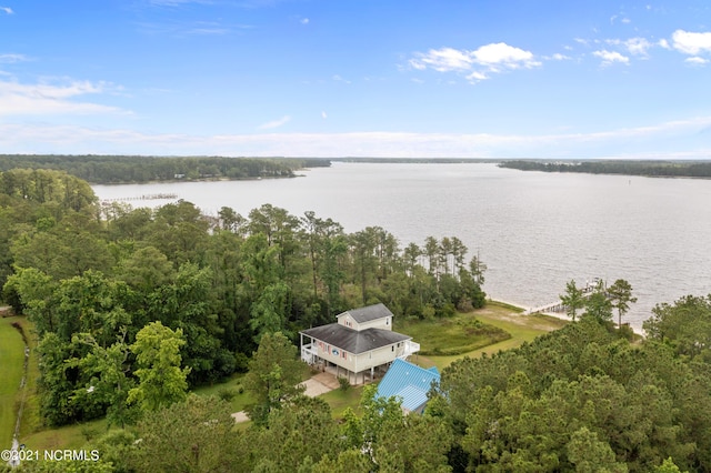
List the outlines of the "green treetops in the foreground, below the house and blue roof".
{"type": "MultiPolygon", "coordinates": [[[[234,429],[226,401],[188,395],[91,441],[101,460],[76,471],[705,472],[710,320],[711,298],[684,298],[658,306],[650,338],[630,343],[583,314],[519,349],[454,362],[422,415],[370,385],[340,420],[293,389],[296,346],[266,334],[248,374],[268,385],[263,422],[234,429]],[[690,314],[694,330],[680,328],[690,314]]],[[[62,471],[37,466],[20,472],[62,471]]]]}

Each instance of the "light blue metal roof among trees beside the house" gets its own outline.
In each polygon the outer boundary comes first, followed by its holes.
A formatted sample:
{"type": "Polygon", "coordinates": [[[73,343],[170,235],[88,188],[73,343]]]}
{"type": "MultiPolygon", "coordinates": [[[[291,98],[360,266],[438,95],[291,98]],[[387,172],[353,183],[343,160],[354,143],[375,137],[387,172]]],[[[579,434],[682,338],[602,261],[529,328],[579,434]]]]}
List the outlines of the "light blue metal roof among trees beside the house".
{"type": "Polygon", "coordinates": [[[439,383],[440,373],[435,369],[425,370],[397,359],[378,384],[378,397],[400,397],[402,407],[414,411],[427,402],[427,393],[432,382],[439,383]]]}

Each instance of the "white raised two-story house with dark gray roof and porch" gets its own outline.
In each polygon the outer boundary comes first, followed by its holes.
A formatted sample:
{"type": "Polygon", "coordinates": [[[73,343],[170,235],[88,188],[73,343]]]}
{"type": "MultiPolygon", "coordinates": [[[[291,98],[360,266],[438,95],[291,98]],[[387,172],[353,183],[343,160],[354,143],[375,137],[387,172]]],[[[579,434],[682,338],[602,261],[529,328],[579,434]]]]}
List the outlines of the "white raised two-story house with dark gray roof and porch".
{"type": "Polygon", "coordinates": [[[383,304],[353,309],[337,315],[338,322],[299,332],[301,359],[333,369],[358,384],[372,380],[378,369],[420,351],[411,336],[392,331],[392,312],[383,304]]]}

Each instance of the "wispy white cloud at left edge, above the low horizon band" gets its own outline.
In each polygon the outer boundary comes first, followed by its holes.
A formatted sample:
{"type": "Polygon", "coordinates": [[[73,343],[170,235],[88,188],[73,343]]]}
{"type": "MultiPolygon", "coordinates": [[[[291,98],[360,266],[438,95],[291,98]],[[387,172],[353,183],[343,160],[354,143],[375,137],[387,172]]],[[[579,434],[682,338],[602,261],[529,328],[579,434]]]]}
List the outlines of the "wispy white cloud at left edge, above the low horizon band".
{"type": "Polygon", "coordinates": [[[106,93],[104,82],[72,81],[66,84],[22,84],[0,81],[0,115],[129,113],[116,107],[81,102],[72,98],[106,93]]]}

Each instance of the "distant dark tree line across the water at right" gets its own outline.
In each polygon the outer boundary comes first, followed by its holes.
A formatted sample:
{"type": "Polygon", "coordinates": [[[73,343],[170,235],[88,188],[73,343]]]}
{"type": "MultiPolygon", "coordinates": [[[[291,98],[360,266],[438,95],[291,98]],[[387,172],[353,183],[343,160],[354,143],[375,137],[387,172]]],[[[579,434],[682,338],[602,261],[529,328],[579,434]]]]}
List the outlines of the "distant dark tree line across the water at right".
{"type": "Polygon", "coordinates": [[[521,171],[584,172],[590,174],[625,174],[652,178],[711,178],[709,161],[541,161],[511,160],[500,168],[521,171]]]}

